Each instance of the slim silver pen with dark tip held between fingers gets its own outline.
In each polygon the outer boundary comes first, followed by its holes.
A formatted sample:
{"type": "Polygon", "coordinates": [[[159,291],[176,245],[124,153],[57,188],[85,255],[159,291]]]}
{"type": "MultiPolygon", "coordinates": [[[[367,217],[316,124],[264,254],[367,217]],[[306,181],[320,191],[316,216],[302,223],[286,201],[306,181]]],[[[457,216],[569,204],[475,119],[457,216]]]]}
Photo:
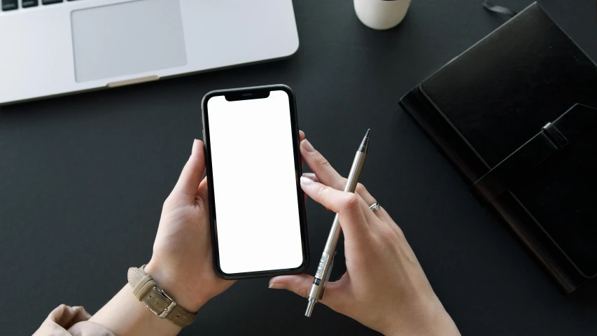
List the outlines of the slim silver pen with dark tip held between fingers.
{"type": "MultiPolygon", "coordinates": [[[[346,187],[344,187],[344,191],[346,192],[354,193],[354,190],[356,189],[358,176],[360,176],[360,171],[363,169],[363,163],[365,163],[365,157],[367,156],[370,134],[371,130],[367,130],[365,138],[363,138],[363,141],[358,147],[358,151],[356,151],[351,172],[349,173],[346,187]]],[[[317,301],[323,299],[323,292],[325,292],[325,286],[328,286],[328,279],[330,279],[330,273],[334,266],[334,255],[336,254],[336,245],[338,244],[340,233],[342,233],[342,228],[340,228],[338,214],[336,214],[334,222],[332,223],[332,230],[330,230],[330,235],[328,236],[328,241],[325,241],[323,254],[321,255],[319,265],[317,266],[317,272],[315,273],[315,279],[313,279],[313,284],[309,291],[309,303],[307,304],[307,311],[305,311],[304,316],[310,317],[317,301]]]]}

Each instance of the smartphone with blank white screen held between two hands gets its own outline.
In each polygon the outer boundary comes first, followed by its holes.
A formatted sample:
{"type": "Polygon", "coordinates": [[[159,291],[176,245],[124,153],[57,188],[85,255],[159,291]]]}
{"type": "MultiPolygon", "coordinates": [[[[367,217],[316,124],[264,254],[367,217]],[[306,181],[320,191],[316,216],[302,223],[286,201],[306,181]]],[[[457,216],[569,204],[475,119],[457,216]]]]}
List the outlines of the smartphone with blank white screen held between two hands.
{"type": "Polygon", "coordinates": [[[244,279],[303,272],[309,248],[293,90],[211,91],[202,121],[216,273],[244,279]]]}

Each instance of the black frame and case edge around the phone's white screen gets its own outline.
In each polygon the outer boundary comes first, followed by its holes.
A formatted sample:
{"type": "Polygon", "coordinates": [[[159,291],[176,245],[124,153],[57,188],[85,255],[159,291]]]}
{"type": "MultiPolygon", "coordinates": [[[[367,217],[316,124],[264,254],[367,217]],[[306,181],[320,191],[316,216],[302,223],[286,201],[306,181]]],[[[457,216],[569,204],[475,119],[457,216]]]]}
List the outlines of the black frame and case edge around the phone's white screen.
{"type": "MultiPolygon", "coordinates": [[[[309,239],[307,235],[307,216],[305,214],[305,207],[304,207],[304,194],[302,189],[300,188],[300,176],[302,176],[302,167],[300,164],[300,151],[299,151],[299,130],[298,130],[298,120],[297,120],[297,109],[296,109],[296,101],[295,101],[295,94],[290,87],[282,84],[277,85],[264,85],[264,86],[255,86],[255,87],[240,87],[235,89],[229,90],[214,90],[207,92],[202,99],[201,103],[201,113],[202,113],[202,123],[203,123],[203,141],[205,144],[205,159],[206,159],[206,174],[207,174],[207,182],[209,186],[209,220],[211,223],[211,246],[213,249],[213,266],[216,269],[216,273],[223,279],[227,280],[237,280],[237,279],[248,279],[248,278],[258,278],[258,277],[265,277],[265,276],[276,276],[276,275],[286,275],[286,274],[299,274],[304,272],[309,265],[309,239]],[[235,274],[227,274],[222,271],[220,267],[220,256],[219,256],[219,249],[218,249],[218,228],[216,222],[216,202],[213,196],[213,175],[211,170],[211,150],[210,143],[209,143],[209,116],[206,118],[207,112],[207,102],[211,97],[216,96],[231,96],[234,97],[233,100],[244,100],[244,99],[258,99],[262,97],[262,94],[265,92],[270,92],[272,90],[282,90],[288,93],[288,97],[290,97],[290,115],[291,115],[291,127],[293,132],[293,151],[294,151],[294,158],[295,158],[295,179],[297,183],[297,200],[299,204],[299,216],[300,216],[300,232],[301,232],[301,242],[302,242],[302,255],[303,255],[303,262],[302,264],[295,268],[295,269],[271,269],[267,271],[259,271],[259,272],[244,272],[244,273],[235,273],[235,274]],[[251,98],[246,98],[244,94],[251,94],[251,98]]],[[[209,113],[209,112],[208,112],[209,113]]],[[[272,251],[275,253],[275,251],[272,251]]]]}

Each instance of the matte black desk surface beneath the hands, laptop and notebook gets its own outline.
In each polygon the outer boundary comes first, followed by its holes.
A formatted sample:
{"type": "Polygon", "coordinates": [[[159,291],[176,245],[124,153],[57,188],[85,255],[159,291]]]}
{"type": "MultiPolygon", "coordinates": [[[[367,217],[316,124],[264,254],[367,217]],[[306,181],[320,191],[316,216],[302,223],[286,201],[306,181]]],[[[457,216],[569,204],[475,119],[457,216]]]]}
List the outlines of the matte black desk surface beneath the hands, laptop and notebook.
{"type": "MultiPolygon", "coordinates": [[[[97,311],[127,268],[150,258],[162,202],[202,134],[203,95],[285,83],[307,138],[344,174],[355,141],[372,129],[361,181],[402,226],[464,335],[596,335],[597,283],[561,295],[398,107],[402,94],[505,21],[481,3],[414,0],[400,26],[373,31],[352,1],[295,1],[300,48],[290,59],[0,108],[2,333],[33,332],[61,303],[97,311]]],[[[594,0],[540,3],[597,59],[594,0]]],[[[250,130],[246,140],[251,146],[250,130]]],[[[309,201],[307,216],[311,255],[319,255],[332,215],[309,201]]],[[[305,304],[268,289],[267,279],[239,281],[183,335],[374,334],[323,305],[304,318],[305,304]]]]}

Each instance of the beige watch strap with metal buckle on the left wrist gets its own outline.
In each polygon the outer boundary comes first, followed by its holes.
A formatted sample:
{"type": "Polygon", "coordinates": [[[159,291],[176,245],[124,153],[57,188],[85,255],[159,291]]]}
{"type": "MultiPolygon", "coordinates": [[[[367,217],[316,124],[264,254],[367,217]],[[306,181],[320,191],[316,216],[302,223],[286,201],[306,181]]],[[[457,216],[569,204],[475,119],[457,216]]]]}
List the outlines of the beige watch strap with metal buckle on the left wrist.
{"type": "Polygon", "coordinates": [[[197,314],[180,307],[163,290],[157,287],[150,275],[143,272],[143,267],[131,267],[127,277],[133,294],[139,301],[143,301],[153,314],[166,318],[179,327],[185,327],[195,321],[197,314]]]}

